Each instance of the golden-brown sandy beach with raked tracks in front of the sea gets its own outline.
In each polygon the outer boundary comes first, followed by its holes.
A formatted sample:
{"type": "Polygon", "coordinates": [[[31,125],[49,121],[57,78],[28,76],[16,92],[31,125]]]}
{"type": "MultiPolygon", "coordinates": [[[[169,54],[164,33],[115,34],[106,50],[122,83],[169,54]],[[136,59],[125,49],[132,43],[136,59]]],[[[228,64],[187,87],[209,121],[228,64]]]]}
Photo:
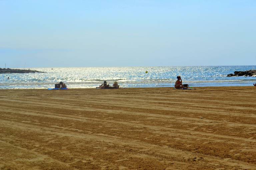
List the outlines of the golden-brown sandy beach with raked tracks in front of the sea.
{"type": "Polygon", "coordinates": [[[256,169],[256,88],[0,90],[0,170],[256,169]]]}

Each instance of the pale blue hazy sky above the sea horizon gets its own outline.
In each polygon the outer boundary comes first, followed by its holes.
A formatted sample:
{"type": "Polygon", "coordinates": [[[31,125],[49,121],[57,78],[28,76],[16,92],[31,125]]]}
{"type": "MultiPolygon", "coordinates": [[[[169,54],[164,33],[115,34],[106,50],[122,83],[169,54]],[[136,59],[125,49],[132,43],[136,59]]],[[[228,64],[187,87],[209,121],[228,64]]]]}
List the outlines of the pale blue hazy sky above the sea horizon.
{"type": "Polygon", "coordinates": [[[256,65],[255,0],[0,0],[0,67],[256,65]]]}

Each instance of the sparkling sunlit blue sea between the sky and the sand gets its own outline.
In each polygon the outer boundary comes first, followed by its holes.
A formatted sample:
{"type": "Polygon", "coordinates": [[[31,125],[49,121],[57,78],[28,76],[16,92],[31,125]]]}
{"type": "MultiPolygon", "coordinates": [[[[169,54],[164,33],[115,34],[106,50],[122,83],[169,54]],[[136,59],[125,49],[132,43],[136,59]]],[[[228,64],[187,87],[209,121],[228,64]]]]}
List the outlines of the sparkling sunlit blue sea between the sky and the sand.
{"type": "Polygon", "coordinates": [[[110,85],[117,81],[125,88],[173,87],[177,75],[191,87],[252,86],[256,77],[226,77],[234,71],[250,69],[256,66],[30,68],[46,73],[0,74],[0,89],[46,89],[60,81],[68,88],[95,88],[104,80],[110,85]]]}

